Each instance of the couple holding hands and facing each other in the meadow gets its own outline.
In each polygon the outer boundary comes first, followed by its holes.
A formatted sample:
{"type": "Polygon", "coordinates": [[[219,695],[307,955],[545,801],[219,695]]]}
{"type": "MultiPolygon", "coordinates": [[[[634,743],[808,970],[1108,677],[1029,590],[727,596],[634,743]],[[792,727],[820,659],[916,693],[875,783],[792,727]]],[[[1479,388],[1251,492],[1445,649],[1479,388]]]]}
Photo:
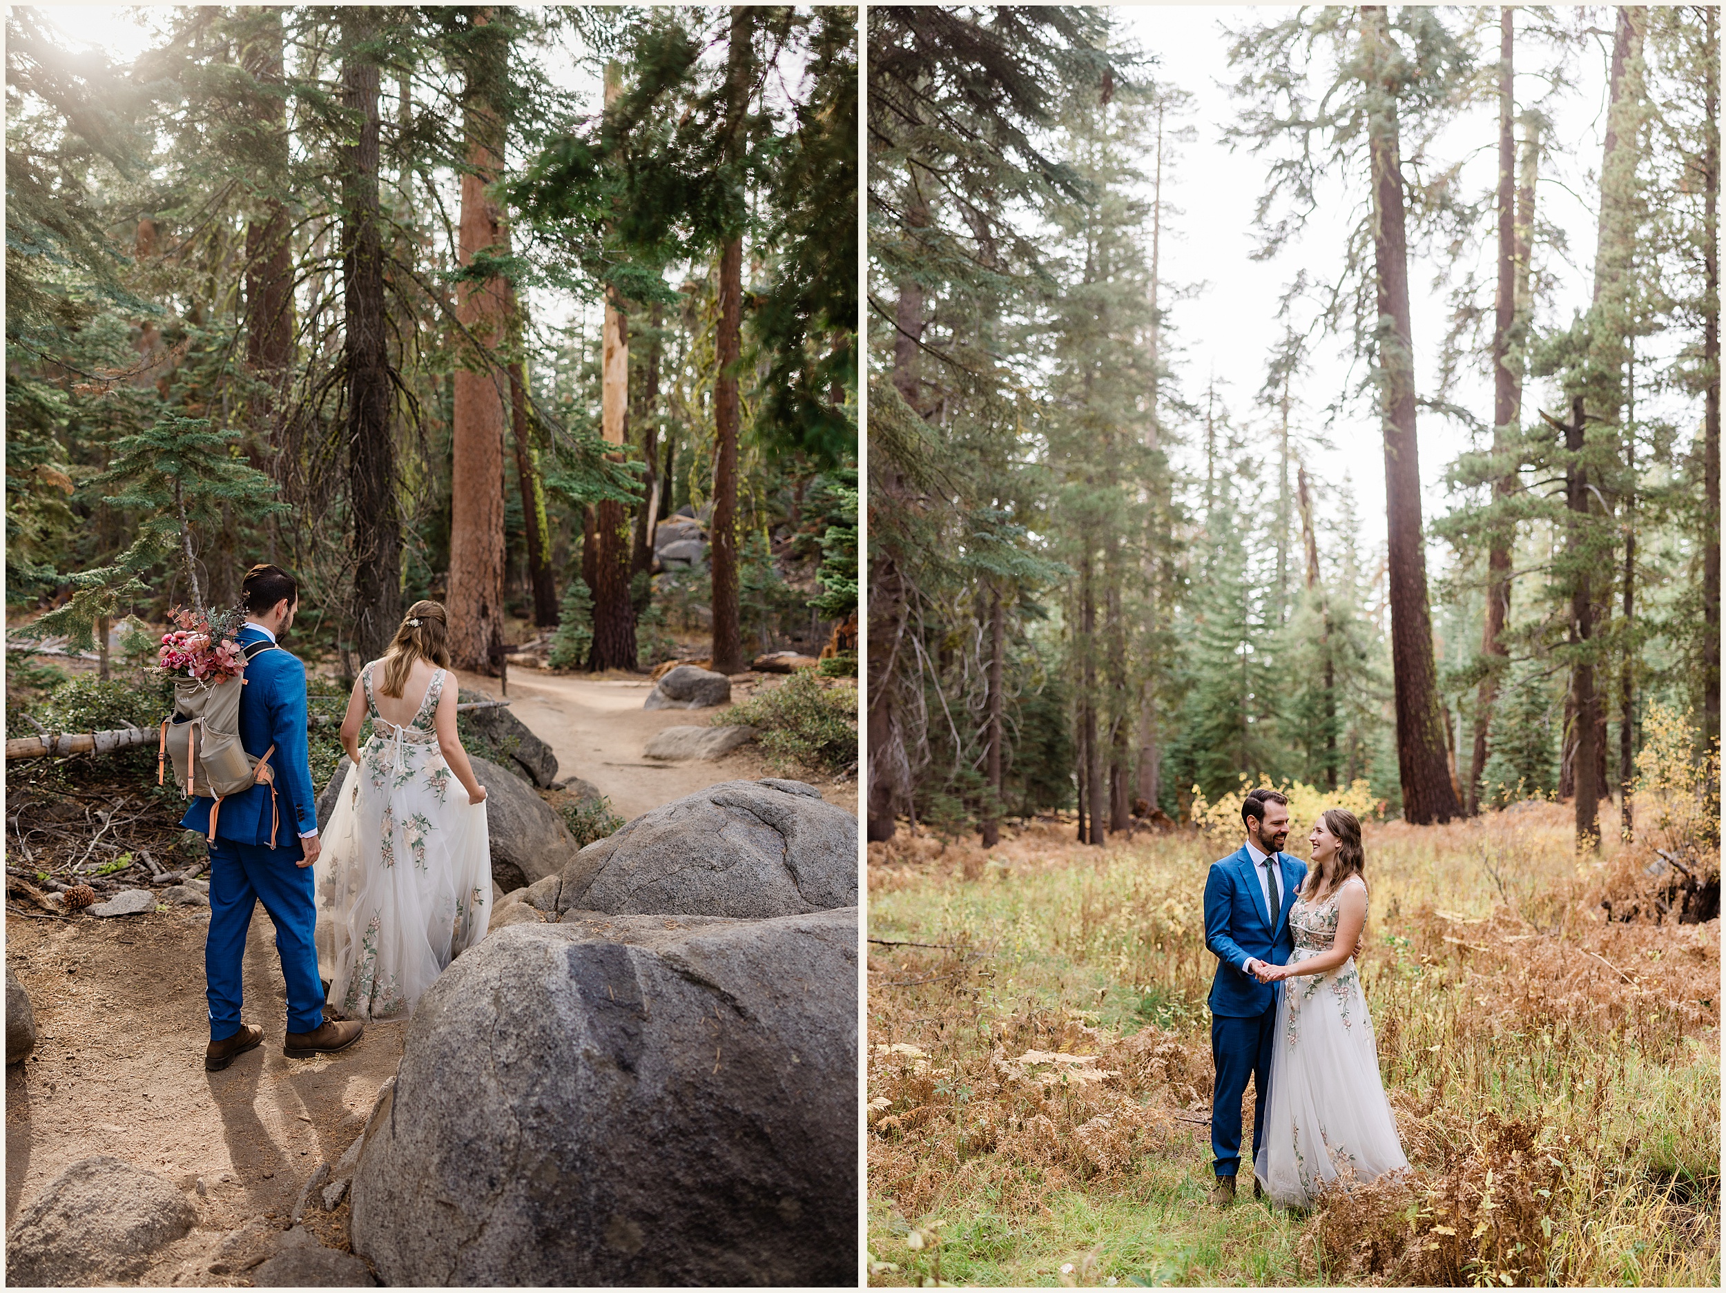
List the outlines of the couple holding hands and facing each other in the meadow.
{"type": "Polygon", "coordinates": [[[1205,880],[1205,946],[1217,956],[1208,1000],[1213,1198],[1234,1202],[1251,1077],[1253,1193],[1303,1207],[1332,1181],[1408,1169],[1355,968],[1367,924],[1365,851],[1355,815],[1331,808],[1308,836],[1310,868],[1284,855],[1289,813],[1277,791],[1248,794],[1241,820],[1246,842],[1205,880]]]}

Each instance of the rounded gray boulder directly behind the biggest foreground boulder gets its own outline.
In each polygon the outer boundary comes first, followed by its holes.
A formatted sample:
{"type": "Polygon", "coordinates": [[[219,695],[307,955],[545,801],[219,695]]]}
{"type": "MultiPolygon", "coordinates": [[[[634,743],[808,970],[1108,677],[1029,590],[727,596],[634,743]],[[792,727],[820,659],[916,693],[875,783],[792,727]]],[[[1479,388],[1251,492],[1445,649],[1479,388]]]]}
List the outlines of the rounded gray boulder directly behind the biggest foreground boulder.
{"type": "Polygon", "coordinates": [[[856,906],[858,820],[803,782],[720,782],[595,839],[557,910],[785,917],[856,906]],[[796,789],[787,789],[796,787],[796,789]]]}

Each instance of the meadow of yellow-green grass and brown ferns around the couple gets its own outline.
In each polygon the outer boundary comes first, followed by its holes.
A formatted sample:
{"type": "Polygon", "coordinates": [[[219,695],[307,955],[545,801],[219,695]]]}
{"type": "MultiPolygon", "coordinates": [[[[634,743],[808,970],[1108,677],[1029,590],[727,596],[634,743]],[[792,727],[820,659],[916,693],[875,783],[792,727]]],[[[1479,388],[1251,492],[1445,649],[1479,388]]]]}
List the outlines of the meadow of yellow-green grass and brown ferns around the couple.
{"type": "Polygon", "coordinates": [[[1717,1284],[1719,918],[1607,922],[1650,851],[1603,818],[1583,861],[1567,804],[1367,827],[1362,984],[1417,1176],[1312,1212],[1208,1202],[1232,844],[870,844],[870,1283],[1717,1284]]]}

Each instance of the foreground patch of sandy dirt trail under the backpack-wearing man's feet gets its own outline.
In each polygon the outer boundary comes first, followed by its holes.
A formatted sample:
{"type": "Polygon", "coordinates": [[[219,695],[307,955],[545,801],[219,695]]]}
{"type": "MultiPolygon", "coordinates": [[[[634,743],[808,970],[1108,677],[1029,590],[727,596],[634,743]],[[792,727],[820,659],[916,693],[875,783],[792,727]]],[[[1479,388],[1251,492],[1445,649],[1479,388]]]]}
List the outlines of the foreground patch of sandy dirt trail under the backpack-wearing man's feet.
{"type": "MultiPolygon", "coordinates": [[[[245,1019],[264,1043],[223,1072],[204,1072],[205,908],[98,920],[7,913],[7,967],[36,1015],[36,1050],[5,1074],[5,1215],[66,1167],[112,1155],[181,1186],[198,1212],[161,1250],[143,1284],[242,1284],[211,1272],[221,1238],[254,1217],[287,1227],[319,1162],[335,1162],[366,1126],[395,1072],[406,1024],[369,1024],[338,1055],[288,1060],[281,965],[262,908],[245,949],[245,1019]]],[[[306,1224],[347,1245],[347,1200],[312,1205],[306,1224]]]]}

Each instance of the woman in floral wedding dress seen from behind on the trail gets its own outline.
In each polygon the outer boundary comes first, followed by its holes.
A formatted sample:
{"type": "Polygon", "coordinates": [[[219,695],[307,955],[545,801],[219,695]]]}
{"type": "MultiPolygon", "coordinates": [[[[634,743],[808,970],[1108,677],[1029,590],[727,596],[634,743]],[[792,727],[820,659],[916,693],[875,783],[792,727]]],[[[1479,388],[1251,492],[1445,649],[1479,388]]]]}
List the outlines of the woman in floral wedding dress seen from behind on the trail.
{"type": "Polygon", "coordinates": [[[456,735],[447,618],[414,602],[342,720],[342,789],[316,861],[318,972],[347,1019],[411,1013],[485,936],[492,849],[485,787],[456,735]],[[371,716],[371,739],[359,730],[371,716]]]}

